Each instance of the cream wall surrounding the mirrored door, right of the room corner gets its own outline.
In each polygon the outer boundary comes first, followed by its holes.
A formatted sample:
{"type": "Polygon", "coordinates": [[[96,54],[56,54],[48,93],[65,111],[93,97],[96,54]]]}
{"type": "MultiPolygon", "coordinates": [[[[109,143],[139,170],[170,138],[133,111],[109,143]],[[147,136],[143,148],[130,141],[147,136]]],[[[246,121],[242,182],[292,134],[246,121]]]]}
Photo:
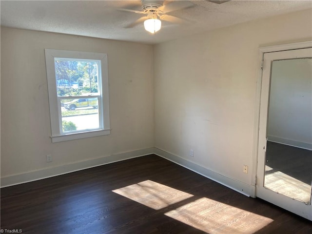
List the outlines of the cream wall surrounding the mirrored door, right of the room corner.
{"type": "Polygon", "coordinates": [[[253,184],[258,49],[311,37],[310,9],[156,45],[155,147],[253,184]]]}

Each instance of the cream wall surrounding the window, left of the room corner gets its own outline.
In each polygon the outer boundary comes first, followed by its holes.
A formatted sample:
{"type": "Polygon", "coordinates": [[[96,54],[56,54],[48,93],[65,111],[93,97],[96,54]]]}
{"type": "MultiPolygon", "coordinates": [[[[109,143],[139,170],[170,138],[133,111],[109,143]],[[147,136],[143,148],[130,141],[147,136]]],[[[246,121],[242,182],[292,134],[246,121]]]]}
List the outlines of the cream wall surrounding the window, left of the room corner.
{"type": "Polygon", "coordinates": [[[152,69],[151,45],[1,28],[1,178],[153,147],[152,69]],[[111,135],[51,143],[45,48],[108,54],[111,135]]]}

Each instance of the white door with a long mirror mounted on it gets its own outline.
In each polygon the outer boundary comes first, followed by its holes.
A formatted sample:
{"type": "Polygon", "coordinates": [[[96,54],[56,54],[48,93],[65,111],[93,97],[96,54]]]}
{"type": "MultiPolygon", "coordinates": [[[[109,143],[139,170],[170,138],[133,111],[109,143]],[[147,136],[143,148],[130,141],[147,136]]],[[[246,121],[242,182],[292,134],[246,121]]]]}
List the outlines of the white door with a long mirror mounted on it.
{"type": "Polygon", "coordinates": [[[256,196],[312,220],[312,48],[263,53],[256,196]]]}

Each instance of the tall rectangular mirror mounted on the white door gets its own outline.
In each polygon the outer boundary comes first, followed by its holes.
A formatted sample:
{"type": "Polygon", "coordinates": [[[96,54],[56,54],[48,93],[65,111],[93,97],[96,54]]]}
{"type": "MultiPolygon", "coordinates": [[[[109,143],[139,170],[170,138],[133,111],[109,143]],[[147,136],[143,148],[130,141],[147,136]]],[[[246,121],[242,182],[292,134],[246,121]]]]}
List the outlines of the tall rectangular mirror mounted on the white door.
{"type": "Polygon", "coordinates": [[[312,59],[272,62],[264,187],[311,204],[312,59]]]}

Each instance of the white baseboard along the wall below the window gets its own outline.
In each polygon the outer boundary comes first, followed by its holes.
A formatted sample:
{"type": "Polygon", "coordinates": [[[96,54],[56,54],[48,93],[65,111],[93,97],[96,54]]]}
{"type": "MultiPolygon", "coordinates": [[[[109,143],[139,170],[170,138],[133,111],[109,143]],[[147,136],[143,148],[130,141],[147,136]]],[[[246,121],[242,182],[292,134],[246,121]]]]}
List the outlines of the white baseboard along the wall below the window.
{"type": "Polygon", "coordinates": [[[2,177],[0,181],[1,183],[0,187],[4,188],[4,187],[27,183],[27,182],[31,182],[31,181],[35,181],[39,179],[59,176],[59,175],[63,175],[63,174],[71,173],[71,172],[76,172],[76,171],[80,171],[80,170],[84,170],[84,169],[88,169],[92,167],[105,165],[108,163],[118,162],[118,161],[140,157],[140,156],[146,156],[146,155],[150,155],[153,153],[154,153],[154,148],[147,148],[147,149],[141,149],[141,150],[126,152],[126,153],[101,157],[101,158],[92,159],[92,160],[72,163],[72,164],[63,165],[59,167],[47,168],[47,169],[43,169],[39,171],[33,171],[33,172],[23,173],[23,174],[14,175],[14,176],[2,177]]]}

